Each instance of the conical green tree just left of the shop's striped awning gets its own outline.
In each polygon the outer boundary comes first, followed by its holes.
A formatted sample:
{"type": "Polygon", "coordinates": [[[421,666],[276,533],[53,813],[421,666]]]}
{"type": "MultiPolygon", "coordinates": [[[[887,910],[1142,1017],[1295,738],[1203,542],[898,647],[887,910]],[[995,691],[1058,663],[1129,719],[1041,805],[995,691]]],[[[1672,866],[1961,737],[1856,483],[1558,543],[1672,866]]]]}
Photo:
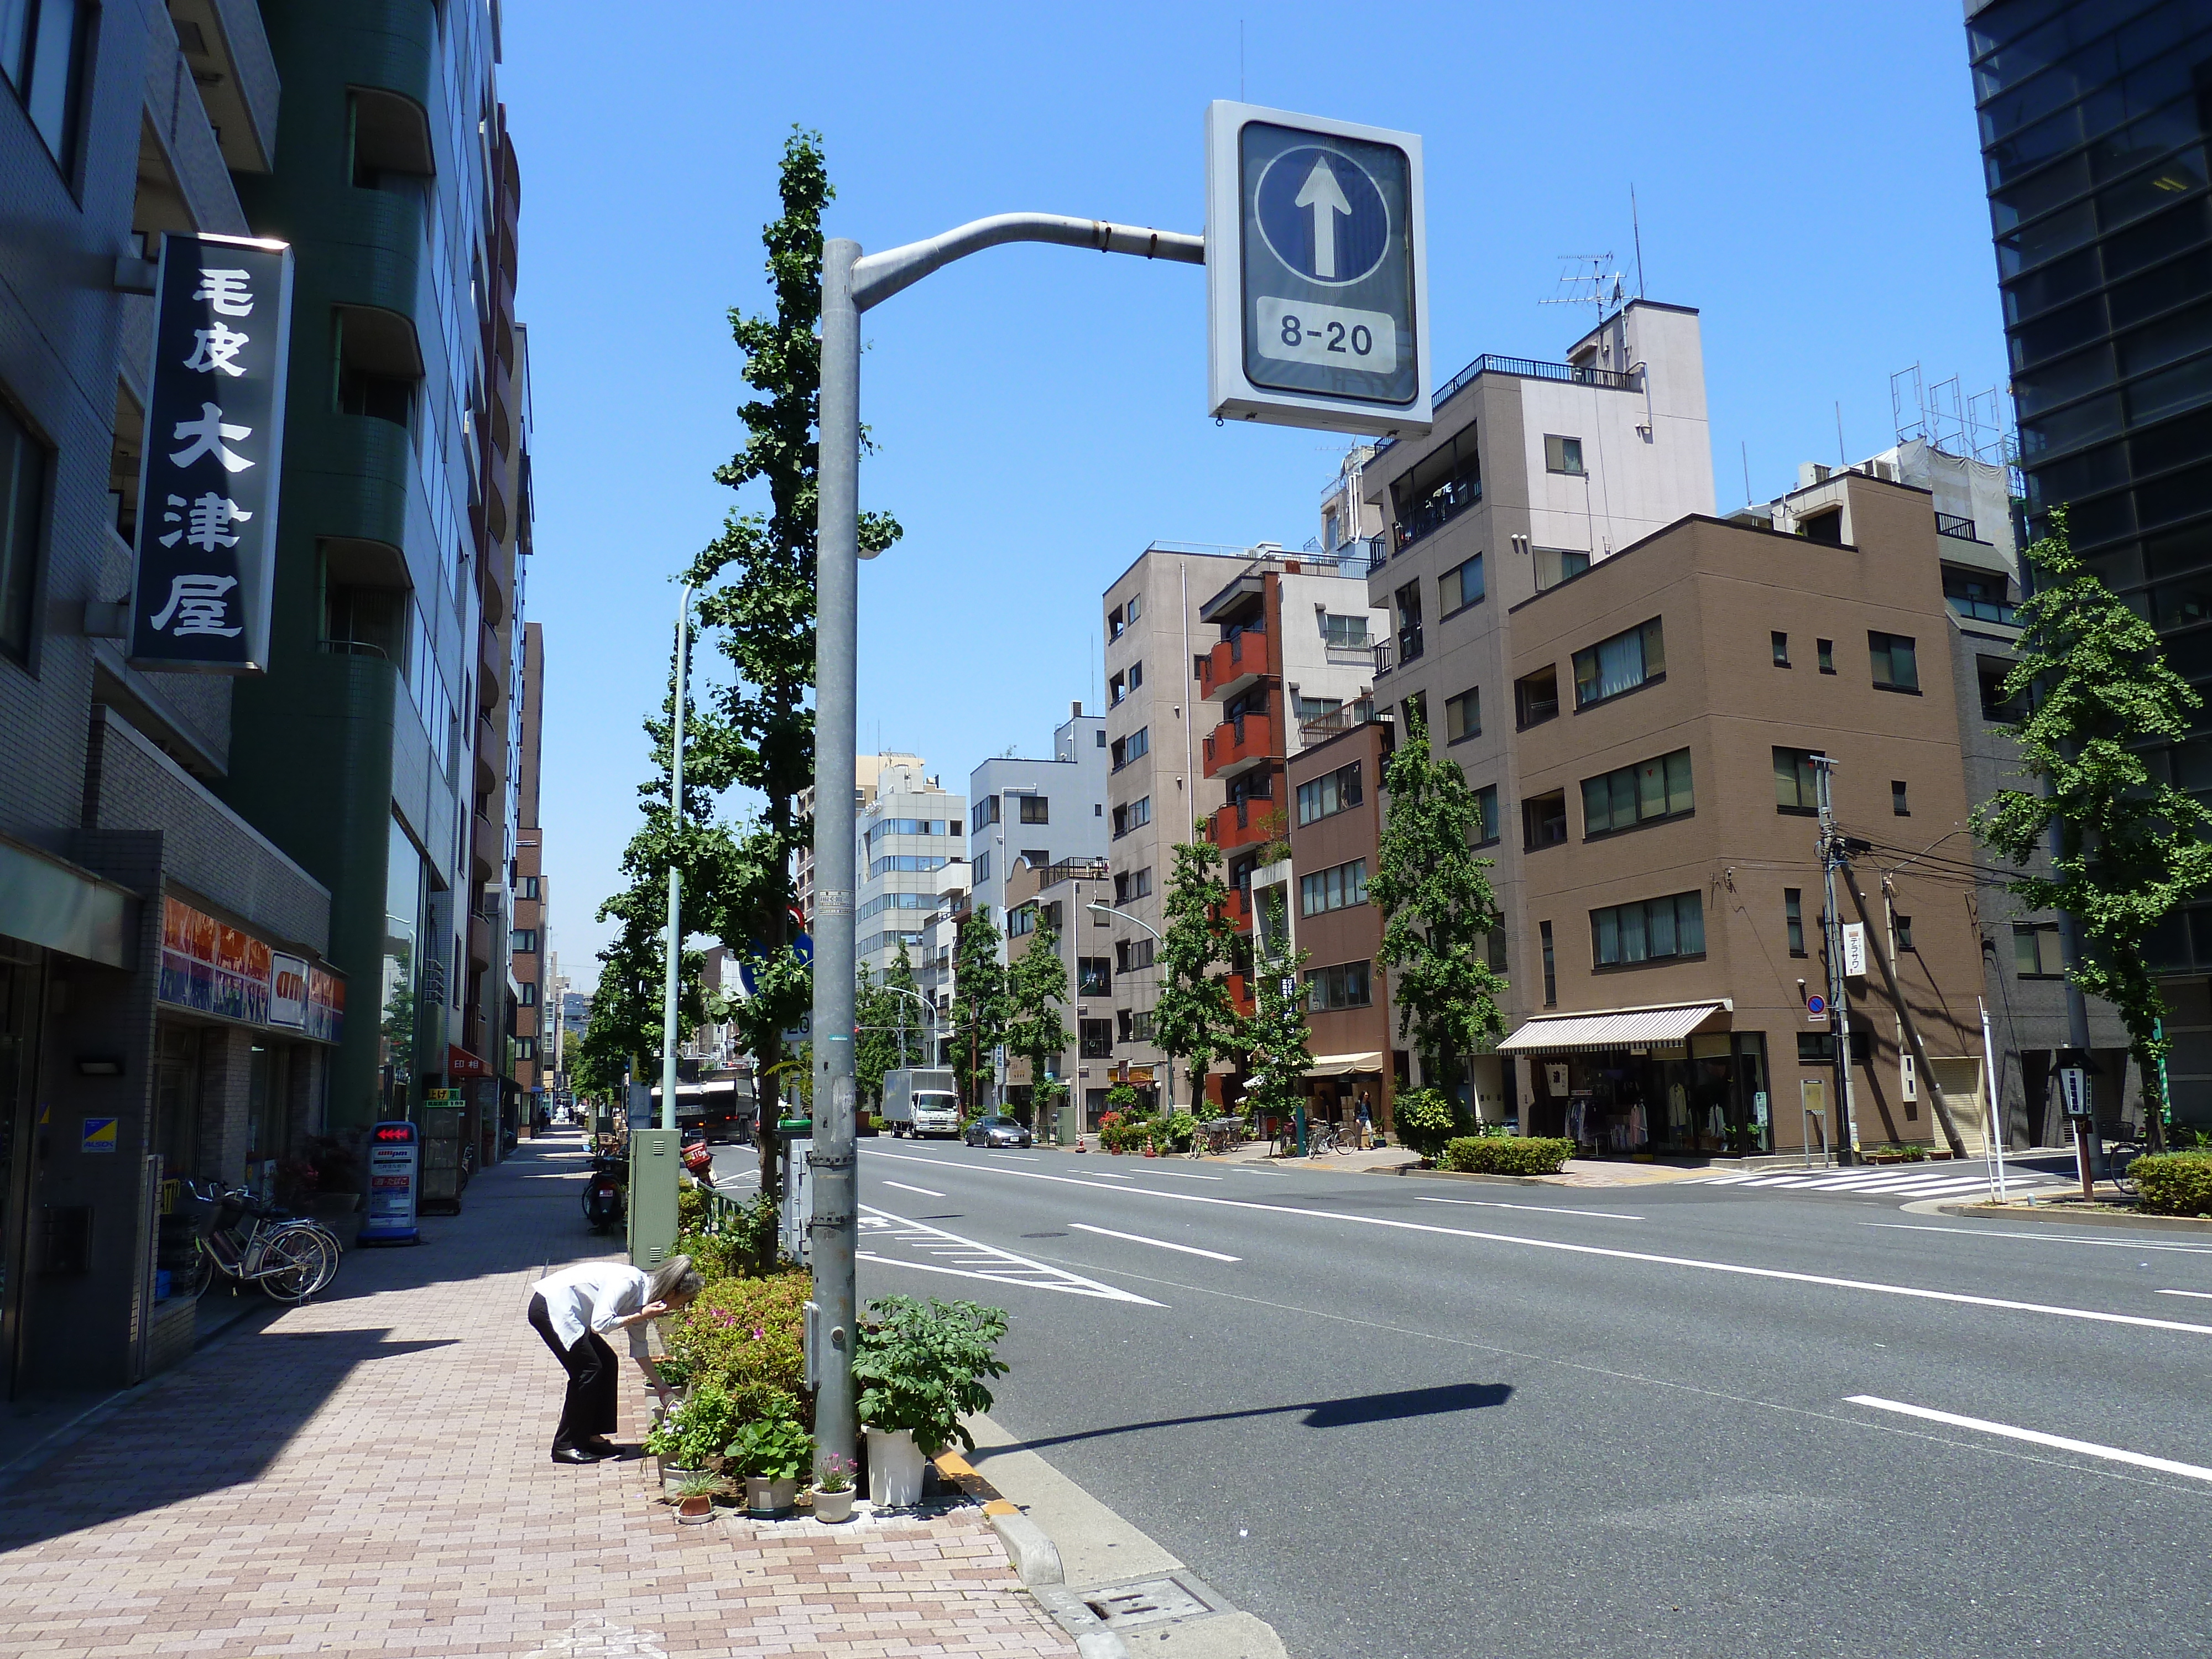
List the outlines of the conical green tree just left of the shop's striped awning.
{"type": "Polygon", "coordinates": [[[1422,1079],[1449,1088],[1458,1060],[1498,1042],[1506,980],[1489,940],[1502,922],[1489,858],[1475,858],[1482,807],[1458,761],[1429,754],[1429,728],[1407,708],[1407,730],[1383,765],[1389,805],[1367,902],[1383,914],[1380,962],[1411,1035],[1422,1079]]]}

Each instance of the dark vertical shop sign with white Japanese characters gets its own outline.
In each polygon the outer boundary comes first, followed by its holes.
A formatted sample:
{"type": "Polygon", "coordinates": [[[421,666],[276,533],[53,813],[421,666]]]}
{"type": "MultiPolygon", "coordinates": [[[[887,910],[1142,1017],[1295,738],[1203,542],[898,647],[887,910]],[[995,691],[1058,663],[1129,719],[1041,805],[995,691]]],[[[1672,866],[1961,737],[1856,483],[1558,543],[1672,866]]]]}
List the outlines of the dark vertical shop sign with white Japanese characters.
{"type": "Polygon", "coordinates": [[[290,334],[288,243],[161,239],[131,593],[139,668],[268,670],[290,334]]]}

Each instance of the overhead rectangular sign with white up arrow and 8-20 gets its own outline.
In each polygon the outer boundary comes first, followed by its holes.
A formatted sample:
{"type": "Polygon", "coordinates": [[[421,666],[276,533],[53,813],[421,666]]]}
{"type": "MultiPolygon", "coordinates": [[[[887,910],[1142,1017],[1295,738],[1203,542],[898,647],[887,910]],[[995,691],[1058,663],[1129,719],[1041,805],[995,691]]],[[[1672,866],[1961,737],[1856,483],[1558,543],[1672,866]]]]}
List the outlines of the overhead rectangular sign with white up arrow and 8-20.
{"type": "Polygon", "coordinates": [[[1210,407],[1225,420],[1429,429],[1420,137],[1206,111],[1210,407]]]}

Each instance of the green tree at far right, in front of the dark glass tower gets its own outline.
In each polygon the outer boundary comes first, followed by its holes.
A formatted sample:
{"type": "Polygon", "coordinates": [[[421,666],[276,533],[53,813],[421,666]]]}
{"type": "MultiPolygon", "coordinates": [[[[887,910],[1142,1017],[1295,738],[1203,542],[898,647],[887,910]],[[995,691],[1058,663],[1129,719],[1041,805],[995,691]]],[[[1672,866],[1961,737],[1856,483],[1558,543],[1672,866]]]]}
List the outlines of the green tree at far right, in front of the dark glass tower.
{"type": "Polygon", "coordinates": [[[2163,768],[2152,772],[2150,754],[2188,734],[2203,697],[2168,666],[2157,630],[2075,555],[2064,507],[2026,560],[2035,584],[2004,697],[2024,710],[2011,732],[2020,776],[2037,787],[2000,790],[1975,807],[1973,830],[2022,869],[2048,852],[2048,876],[2022,874],[2006,889],[2075,920],[2079,960],[2066,971],[2128,1029],[2163,1148],[2166,998],[2143,947],[2212,883],[2212,812],[2163,768]]]}

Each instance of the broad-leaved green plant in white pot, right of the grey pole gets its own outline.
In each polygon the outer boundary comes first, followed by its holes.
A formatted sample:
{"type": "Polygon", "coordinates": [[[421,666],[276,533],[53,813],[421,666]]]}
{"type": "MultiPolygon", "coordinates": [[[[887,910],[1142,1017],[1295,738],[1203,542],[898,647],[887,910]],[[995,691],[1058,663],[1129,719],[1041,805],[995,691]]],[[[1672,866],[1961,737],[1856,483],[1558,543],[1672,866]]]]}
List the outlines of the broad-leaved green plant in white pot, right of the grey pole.
{"type": "Polygon", "coordinates": [[[878,1509],[918,1504],[922,1460],[958,1440],[975,1447],[962,1416],[991,1409],[987,1376],[1004,1376],[995,1356],[1006,1334],[1002,1307],[918,1303],[883,1296],[867,1305],[852,1358],[867,1425],[867,1495],[878,1509]]]}

